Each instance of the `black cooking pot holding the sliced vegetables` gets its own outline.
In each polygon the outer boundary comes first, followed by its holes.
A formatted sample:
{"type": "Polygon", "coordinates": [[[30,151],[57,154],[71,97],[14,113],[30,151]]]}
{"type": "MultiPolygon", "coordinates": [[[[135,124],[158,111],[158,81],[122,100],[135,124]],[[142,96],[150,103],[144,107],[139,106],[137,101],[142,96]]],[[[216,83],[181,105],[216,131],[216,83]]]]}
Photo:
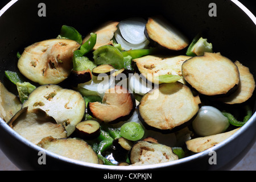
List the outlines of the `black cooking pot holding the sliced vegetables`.
{"type": "MultiPolygon", "coordinates": [[[[228,0],[19,0],[11,1],[0,17],[0,80],[9,90],[16,89],[5,77],[5,70],[18,71],[16,53],[41,40],[56,38],[63,24],[75,27],[82,35],[106,20],[122,20],[132,16],[161,14],[192,40],[203,32],[214,46],[214,52],[250,68],[256,75],[255,42],[256,19],[238,1],[228,0]],[[40,4],[44,3],[44,4],[40,4]],[[216,14],[213,6],[216,5],[216,14]],[[12,5],[11,5],[12,4],[12,5]],[[43,6],[42,6],[43,5],[43,6]],[[45,6],[44,6],[45,5],[45,6]],[[46,7],[46,11],[42,8],[46,7]]],[[[2,10],[3,12],[3,10],[2,10]]],[[[39,164],[42,148],[16,134],[2,119],[0,120],[0,147],[5,155],[20,169],[230,169],[237,164],[255,142],[255,98],[254,115],[229,139],[184,159],[163,164],[138,167],[103,166],[82,163],[46,152],[46,164],[39,164]],[[217,164],[209,164],[209,152],[217,154],[217,164]]]]}

